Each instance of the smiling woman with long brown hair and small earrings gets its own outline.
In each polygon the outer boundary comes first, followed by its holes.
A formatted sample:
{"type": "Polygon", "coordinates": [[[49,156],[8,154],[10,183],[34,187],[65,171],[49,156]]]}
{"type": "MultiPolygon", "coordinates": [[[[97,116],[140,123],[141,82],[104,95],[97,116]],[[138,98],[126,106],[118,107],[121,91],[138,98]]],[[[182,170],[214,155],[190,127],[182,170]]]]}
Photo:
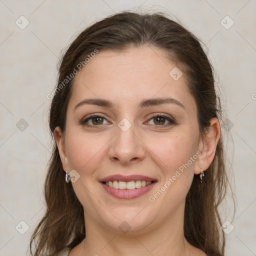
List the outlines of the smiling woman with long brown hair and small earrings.
{"type": "Polygon", "coordinates": [[[109,16],[71,43],[47,97],[33,255],[223,255],[220,105],[194,35],[161,13],[109,16]]]}

